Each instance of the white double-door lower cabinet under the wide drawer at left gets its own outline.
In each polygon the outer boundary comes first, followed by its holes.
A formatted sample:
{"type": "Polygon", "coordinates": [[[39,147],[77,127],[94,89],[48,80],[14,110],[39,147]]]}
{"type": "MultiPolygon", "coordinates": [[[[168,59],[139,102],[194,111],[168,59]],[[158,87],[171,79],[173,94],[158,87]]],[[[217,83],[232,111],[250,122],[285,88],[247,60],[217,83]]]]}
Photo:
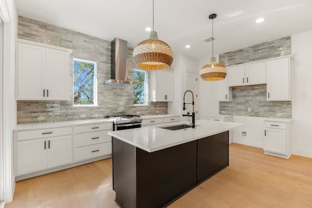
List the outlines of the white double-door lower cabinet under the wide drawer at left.
{"type": "Polygon", "coordinates": [[[72,135],[17,142],[17,175],[72,162],[72,135]]]}

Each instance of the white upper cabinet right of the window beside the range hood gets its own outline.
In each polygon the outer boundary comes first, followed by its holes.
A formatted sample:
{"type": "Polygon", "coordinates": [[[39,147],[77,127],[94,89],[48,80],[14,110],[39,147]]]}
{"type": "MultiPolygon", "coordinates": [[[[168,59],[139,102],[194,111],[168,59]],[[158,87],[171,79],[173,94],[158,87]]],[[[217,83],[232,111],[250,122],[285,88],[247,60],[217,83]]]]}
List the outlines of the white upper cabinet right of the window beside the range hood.
{"type": "Polygon", "coordinates": [[[174,73],[151,72],[151,101],[174,101],[174,73]]]}

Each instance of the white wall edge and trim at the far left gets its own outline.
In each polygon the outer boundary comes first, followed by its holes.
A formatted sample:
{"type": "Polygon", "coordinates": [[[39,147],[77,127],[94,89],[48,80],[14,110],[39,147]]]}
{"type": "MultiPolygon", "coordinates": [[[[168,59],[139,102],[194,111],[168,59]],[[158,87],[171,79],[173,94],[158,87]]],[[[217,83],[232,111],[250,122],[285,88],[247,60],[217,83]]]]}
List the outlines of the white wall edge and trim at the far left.
{"type": "Polygon", "coordinates": [[[0,0],[3,24],[3,147],[4,147],[4,202],[13,198],[13,128],[16,126],[15,101],[15,38],[18,16],[14,0],[0,0]]]}

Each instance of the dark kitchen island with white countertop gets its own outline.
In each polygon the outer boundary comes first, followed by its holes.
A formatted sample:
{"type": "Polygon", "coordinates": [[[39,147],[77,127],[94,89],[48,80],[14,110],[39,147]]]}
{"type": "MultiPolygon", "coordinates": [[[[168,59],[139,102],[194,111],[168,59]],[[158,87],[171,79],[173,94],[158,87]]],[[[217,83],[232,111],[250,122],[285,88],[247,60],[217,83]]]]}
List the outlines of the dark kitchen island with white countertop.
{"type": "Polygon", "coordinates": [[[168,206],[229,166],[228,131],[241,125],[197,120],[195,129],[144,127],[108,132],[113,137],[117,204],[122,208],[168,206]]]}

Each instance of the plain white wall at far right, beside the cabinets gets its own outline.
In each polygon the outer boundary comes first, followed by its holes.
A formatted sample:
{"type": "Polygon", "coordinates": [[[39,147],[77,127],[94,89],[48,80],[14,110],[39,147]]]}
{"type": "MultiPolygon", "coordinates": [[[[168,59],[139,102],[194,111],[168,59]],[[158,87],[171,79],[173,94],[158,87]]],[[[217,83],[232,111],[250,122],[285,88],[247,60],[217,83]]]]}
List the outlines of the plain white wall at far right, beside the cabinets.
{"type": "Polygon", "coordinates": [[[292,153],[312,157],[312,31],[292,36],[292,153]]]}

